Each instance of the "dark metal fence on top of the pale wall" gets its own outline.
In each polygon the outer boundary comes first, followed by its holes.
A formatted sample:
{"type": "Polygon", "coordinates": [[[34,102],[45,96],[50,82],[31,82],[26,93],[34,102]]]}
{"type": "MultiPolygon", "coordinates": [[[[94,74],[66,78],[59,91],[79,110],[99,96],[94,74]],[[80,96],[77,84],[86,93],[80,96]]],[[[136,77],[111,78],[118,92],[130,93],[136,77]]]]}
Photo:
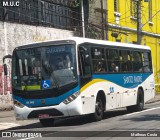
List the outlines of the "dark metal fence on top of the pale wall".
{"type": "Polygon", "coordinates": [[[0,4],[0,20],[73,30],[80,25],[80,8],[68,6],[64,0],[62,3],[19,0],[18,7],[0,4]]]}

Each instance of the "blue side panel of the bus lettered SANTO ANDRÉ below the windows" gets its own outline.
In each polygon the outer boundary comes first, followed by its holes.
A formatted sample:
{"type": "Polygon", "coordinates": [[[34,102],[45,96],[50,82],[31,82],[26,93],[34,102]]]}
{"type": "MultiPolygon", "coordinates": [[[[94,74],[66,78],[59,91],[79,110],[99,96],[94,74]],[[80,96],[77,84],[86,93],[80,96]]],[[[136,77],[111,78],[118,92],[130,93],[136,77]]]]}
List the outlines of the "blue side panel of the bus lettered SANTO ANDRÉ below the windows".
{"type": "Polygon", "coordinates": [[[103,79],[124,88],[135,88],[143,83],[153,73],[128,73],[128,74],[94,74],[92,79],[103,79]]]}

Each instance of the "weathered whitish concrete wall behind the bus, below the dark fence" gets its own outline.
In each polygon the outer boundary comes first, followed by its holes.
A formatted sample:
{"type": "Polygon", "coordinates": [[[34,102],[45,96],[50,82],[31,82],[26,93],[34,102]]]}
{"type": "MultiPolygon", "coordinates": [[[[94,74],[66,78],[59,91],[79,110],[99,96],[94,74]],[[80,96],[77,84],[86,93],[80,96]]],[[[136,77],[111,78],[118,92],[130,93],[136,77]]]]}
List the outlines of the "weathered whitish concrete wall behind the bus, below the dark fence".
{"type": "MultiPolygon", "coordinates": [[[[73,32],[67,30],[0,22],[0,110],[12,108],[10,72],[8,76],[3,74],[3,56],[20,45],[71,36],[73,32]]],[[[5,63],[10,68],[11,60],[5,63]]]]}

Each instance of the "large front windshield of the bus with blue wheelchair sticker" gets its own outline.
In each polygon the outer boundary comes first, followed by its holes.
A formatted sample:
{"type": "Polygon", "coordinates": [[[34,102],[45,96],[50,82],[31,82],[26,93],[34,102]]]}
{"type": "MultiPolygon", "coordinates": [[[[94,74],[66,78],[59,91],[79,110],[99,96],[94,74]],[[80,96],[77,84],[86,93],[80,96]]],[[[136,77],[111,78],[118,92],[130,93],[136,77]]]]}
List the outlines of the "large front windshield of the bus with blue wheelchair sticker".
{"type": "Polygon", "coordinates": [[[15,50],[12,85],[19,90],[62,87],[77,81],[74,45],[15,50]]]}

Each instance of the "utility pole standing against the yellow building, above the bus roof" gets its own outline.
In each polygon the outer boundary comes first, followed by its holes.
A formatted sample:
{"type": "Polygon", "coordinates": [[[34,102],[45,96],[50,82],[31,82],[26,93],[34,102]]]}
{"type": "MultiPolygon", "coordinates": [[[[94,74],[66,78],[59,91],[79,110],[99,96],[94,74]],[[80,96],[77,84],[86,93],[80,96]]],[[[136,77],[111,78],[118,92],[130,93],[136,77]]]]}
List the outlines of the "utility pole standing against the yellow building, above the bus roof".
{"type": "Polygon", "coordinates": [[[137,0],[137,44],[142,41],[141,0],[137,0]]]}

